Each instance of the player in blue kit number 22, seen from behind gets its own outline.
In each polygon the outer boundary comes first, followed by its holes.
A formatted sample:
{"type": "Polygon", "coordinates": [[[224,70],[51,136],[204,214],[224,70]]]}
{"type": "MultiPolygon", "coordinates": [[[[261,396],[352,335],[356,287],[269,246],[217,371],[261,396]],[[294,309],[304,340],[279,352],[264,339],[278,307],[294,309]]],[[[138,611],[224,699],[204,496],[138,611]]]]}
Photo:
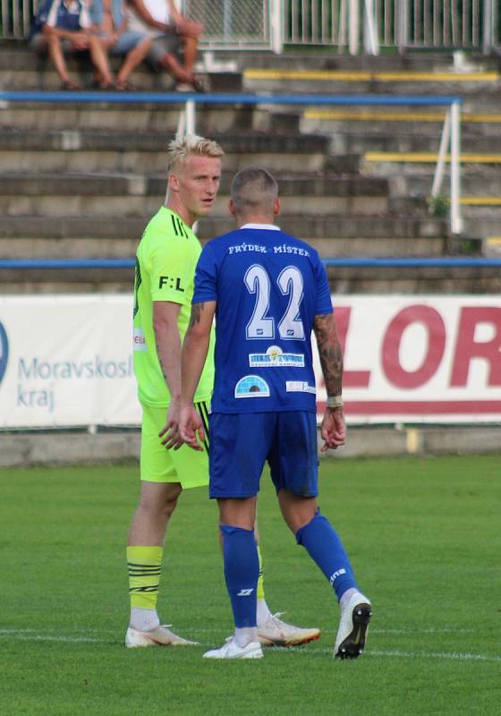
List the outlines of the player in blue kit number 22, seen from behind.
{"type": "Polygon", "coordinates": [[[272,175],[258,167],[234,177],[237,230],[209,242],[195,274],[182,356],[180,430],[200,449],[203,424],[193,396],[216,316],[216,377],[209,417],[209,497],[217,499],[234,635],[211,659],[259,659],[259,559],[253,526],[259,479],[270,466],[285,523],[326,575],[340,602],[334,655],[355,659],[366,642],[370,601],[359,590],[335,529],[320,513],[316,388],[311,331],[327,387],[322,451],[344,444],[343,356],[327,276],[309,244],[275,226],[272,175]]]}

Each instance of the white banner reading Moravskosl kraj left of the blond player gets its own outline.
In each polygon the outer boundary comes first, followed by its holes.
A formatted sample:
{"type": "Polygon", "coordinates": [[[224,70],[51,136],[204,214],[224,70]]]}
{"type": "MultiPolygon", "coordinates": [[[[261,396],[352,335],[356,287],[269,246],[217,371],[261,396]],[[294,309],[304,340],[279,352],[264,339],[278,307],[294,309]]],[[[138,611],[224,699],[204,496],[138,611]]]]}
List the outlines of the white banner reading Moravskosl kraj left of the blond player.
{"type": "Polygon", "coordinates": [[[132,296],[0,298],[0,427],[140,422],[132,296]]]}

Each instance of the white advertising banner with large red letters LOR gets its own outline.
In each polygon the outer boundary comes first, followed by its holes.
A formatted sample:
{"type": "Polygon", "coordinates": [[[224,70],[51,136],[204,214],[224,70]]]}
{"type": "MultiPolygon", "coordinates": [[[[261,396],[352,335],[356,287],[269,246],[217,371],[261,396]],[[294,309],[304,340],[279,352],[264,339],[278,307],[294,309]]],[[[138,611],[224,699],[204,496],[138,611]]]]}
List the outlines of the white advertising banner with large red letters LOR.
{"type": "Polygon", "coordinates": [[[348,422],[501,422],[500,296],[333,300],[348,422]]]}

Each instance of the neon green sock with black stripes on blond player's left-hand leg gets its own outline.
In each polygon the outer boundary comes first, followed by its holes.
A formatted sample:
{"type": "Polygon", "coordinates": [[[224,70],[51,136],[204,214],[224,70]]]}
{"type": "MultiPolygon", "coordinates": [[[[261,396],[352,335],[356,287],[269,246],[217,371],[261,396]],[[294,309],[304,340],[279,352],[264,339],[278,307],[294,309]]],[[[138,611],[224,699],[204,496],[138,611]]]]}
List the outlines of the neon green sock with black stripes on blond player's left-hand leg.
{"type": "Polygon", "coordinates": [[[131,609],[157,609],[162,547],[127,547],[131,609]]]}

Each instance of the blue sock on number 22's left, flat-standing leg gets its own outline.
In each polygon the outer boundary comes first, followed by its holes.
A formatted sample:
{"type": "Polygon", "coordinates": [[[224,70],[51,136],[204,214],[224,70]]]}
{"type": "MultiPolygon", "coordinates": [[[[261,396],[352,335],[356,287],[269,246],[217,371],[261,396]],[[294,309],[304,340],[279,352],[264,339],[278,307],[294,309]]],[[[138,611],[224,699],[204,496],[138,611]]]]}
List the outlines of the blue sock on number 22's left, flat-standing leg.
{"type": "Polygon", "coordinates": [[[259,558],[254,530],[221,524],[226,589],[237,628],[257,626],[259,558]]]}

